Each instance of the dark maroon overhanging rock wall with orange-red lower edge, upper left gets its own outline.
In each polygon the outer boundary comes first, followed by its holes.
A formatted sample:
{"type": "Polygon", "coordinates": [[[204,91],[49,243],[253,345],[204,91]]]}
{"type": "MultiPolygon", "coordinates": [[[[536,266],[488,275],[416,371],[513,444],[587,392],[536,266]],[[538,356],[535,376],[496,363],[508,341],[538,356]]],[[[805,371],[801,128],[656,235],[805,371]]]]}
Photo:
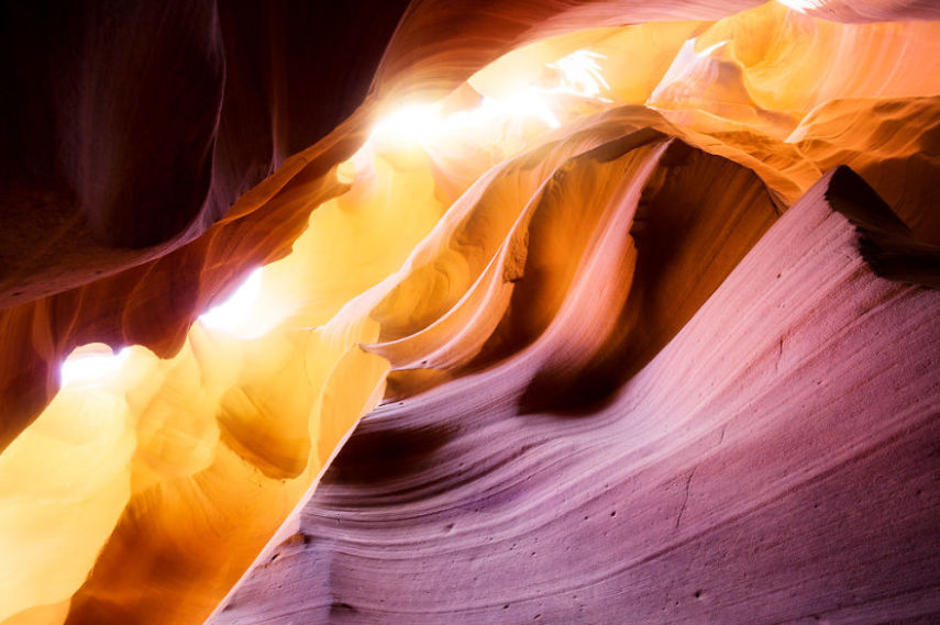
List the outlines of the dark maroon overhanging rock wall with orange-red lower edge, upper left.
{"type": "Polygon", "coordinates": [[[3,353],[0,447],[74,348],[179,351],[198,314],[342,192],[331,168],[389,107],[548,35],[757,3],[9,4],[0,328],[35,338],[3,353]]]}

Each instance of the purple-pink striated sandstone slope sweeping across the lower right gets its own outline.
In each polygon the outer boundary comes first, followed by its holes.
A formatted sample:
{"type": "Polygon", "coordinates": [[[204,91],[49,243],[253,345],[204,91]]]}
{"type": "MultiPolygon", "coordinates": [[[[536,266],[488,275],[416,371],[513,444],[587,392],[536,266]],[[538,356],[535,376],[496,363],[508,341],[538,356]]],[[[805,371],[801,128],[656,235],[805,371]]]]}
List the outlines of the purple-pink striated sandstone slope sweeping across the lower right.
{"type": "Polygon", "coordinates": [[[940,295],[860,256],[885,211],[828,174],[605,403],[526,410],[617,332],[579,272],[528,348],[366,416],[209,622],[936,618],[940,295]]]}

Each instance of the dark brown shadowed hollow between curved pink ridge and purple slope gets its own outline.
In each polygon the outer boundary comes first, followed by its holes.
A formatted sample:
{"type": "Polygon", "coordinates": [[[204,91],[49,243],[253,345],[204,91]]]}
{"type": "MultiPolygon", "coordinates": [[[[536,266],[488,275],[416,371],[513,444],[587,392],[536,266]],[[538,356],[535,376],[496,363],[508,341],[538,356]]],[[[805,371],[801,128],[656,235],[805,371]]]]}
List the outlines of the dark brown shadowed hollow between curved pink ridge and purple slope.
{"type": "Polygon", "coordinates": [[[537,373],[520,413],[584,416],[608,403],[685,326],[777,216],[752,171],[674,142],[624,233],[634,241],[637,267],[612,332],[586,365],[554,365],[537,373]],[[712,183],[718,180],[720,186],[712,183]]]}

